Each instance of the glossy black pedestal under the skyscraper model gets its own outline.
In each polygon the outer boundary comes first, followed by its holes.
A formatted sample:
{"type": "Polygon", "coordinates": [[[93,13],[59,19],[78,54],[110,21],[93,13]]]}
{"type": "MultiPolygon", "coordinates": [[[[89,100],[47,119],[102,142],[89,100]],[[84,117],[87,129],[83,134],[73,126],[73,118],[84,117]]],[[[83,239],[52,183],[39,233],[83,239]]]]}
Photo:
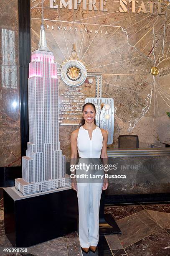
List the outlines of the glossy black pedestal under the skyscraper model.
{"type": "Polygon", "coordinates": [[[4,189],[5,234],[14,247],[28,247],[77,230],[73,189],[20,197],[4,189]]]}

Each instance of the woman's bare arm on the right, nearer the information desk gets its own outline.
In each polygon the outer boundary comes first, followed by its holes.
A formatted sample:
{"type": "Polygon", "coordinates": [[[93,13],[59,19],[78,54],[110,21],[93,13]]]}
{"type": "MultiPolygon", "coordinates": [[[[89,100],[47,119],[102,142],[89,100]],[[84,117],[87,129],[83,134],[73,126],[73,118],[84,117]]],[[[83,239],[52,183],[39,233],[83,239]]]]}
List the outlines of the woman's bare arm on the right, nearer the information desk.
{"type": "MultiPolygon", "coordinates": [[[[107,156],[107,131],[105,131],[104,129],[101,129],[101,133],[103,136],[103,147],[101,149],[101,159],[103,161],[103,164],[107,164],[107,160],[108,160],[108,156],[107,156]]],[[[108,187],[109,183],[108,183],[108,179],[104,178],[104,182],[103,182],[103,187],[102,190],[106,190],[108,187]]]]}

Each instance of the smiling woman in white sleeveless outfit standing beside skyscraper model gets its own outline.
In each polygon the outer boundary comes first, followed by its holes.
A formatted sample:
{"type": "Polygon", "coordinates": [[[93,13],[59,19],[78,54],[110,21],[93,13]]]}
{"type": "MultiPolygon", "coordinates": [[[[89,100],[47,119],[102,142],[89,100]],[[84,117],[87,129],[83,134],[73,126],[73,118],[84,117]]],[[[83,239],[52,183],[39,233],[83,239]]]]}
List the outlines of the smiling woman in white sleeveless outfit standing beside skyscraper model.
{"type": "MultiPolygon", "coordinates": [[[[96,125],[96,108],[92,103],[83,106],[81,127],[71,134],[71,159],[107,159],[107,131],[96,125]]],[[[81,248],[88,252],[96,251],[99,241],[99,206],[102,190],[107,189],[108,181],[103,183],[77,183],[72,179],[72,189],[77,191],[79,202],[79,240],[81,248]]]]}

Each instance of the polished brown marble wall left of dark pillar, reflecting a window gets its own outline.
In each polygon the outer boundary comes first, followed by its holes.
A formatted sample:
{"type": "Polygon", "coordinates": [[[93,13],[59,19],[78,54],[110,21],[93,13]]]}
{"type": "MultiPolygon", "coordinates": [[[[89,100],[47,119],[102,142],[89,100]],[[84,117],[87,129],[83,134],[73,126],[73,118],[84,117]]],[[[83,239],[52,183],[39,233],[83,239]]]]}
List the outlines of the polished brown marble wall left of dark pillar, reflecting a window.
{"type": "Polygon", "coordinates": [[[0,1],[0,167],[20,166],[18,0],[0,1]]]}

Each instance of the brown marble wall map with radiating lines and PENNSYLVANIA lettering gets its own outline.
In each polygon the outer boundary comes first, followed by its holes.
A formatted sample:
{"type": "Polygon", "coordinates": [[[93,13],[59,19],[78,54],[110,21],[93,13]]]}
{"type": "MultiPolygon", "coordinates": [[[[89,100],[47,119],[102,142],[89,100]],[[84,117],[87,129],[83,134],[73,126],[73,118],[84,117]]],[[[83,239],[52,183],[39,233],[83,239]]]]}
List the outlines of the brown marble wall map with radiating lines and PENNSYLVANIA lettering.
{"type": "MultiPolygon", "coordinates": [[[[69,6],[70,1],[44,0],[46,39],[58,70],[70,59],[75,43],[87,72],[101,74],[102,97],[114,99],[114,147],[119,134],[137,134],[140,147],[170,142],[170,118],[166,114],[170,112],[169,1],[94,2],[91,10],[85,2],[84,10],[82,1],[74,9],[74,1],[69,6]],[[66,8],[62,3],[68,4],[66,8]],[[101,3],[107,10],[100,10],[101,3]],[[157,75],[151,73],[152,67],[158,68],[157,75]]],[[[41,4],[42,0],[30,1],[32,51],[39,40],[41,4]]],[[[64,86],[59,78],[59,93],[64,86]]],[[[81,87],[90,90],[88,79],[81,87]]],[[[76,128],[60,125],[66,156],[70,154],[70,134],[76,128]]]]}

